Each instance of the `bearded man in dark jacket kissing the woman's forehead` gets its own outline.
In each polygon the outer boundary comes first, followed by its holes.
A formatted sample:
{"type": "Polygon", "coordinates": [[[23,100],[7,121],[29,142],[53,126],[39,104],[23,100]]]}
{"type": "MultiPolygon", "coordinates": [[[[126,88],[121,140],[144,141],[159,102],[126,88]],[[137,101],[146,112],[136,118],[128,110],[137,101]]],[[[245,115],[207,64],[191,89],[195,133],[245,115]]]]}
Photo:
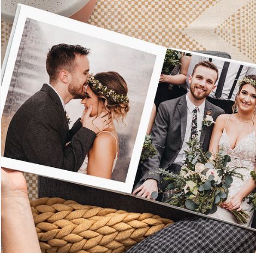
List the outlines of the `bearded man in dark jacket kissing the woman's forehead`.
{"type": "MultiPolygon", "coordinates": [[[[90,118],[91,107],[68,130],[65,105],[72,99],[84,98],[90,70],[89,52],[79,45],[52,46],[46,58],[50,82],[29,98],[11,119],[4,156],[69,171],[79,170],[97,132],[108,128],[108,116],[90,118]]],[[[55,191],[67,189],[66,182],[39,177],[39,195],[44,196],[49,187],[55,191]]]]}

